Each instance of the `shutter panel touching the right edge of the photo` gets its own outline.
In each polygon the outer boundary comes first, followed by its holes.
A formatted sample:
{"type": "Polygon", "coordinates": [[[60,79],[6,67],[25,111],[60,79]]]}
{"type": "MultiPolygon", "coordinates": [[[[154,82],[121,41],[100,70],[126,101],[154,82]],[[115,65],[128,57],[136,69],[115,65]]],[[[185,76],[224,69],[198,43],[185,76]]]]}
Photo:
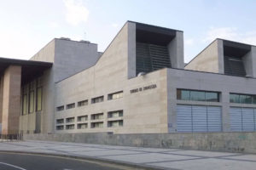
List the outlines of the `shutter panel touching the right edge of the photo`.
{"type": "Polygon", "coordinates": [[[243,131],[254,131],[254,113],[251,108],[242,108],[242,130],[243,131]]]}

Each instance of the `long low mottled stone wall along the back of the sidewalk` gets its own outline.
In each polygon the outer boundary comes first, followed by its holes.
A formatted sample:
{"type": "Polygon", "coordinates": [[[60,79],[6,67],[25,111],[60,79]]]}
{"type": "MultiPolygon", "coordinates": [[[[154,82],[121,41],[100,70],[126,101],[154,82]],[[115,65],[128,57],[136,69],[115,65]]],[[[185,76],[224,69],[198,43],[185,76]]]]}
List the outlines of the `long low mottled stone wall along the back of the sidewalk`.
{"type": "Polygon", "coordinates": [[[24,134],[25,140],[51,140],[88,144],[215,150],[256,154],[255,133],[62,133],[24,134]]]}

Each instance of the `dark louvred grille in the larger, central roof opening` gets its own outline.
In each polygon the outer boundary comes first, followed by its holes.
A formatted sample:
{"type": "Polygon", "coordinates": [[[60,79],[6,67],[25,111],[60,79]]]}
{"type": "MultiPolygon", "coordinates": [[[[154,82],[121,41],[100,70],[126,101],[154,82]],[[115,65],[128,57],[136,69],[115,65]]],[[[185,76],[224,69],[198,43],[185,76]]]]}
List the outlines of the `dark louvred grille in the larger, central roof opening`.
{"type": "Polygon", "coordinates": [[[171,68],[168,49],[165,46],[137,42],[136,48],[137,74],[171,68]]]}

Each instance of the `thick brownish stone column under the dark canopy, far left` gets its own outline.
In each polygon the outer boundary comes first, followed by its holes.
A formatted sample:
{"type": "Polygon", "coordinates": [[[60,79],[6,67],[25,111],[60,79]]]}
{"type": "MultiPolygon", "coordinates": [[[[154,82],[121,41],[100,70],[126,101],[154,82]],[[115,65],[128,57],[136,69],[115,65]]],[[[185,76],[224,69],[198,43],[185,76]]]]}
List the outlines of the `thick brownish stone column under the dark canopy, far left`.
{"type": "Polygon", "coordinates": [[[21,66],[10,65],[3,76],[2,133],[19,132],[21,66]]]}

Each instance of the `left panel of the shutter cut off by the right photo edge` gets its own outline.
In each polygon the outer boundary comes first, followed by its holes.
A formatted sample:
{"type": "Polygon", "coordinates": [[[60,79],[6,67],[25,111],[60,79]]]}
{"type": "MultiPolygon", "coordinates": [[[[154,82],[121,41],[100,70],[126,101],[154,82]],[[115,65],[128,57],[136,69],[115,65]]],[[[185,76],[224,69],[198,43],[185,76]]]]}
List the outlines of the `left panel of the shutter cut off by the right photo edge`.
{"type": "Polygon", "coordinates": [[[241,131],[241,108],[230,107],[230,130],[241,131]]]}

